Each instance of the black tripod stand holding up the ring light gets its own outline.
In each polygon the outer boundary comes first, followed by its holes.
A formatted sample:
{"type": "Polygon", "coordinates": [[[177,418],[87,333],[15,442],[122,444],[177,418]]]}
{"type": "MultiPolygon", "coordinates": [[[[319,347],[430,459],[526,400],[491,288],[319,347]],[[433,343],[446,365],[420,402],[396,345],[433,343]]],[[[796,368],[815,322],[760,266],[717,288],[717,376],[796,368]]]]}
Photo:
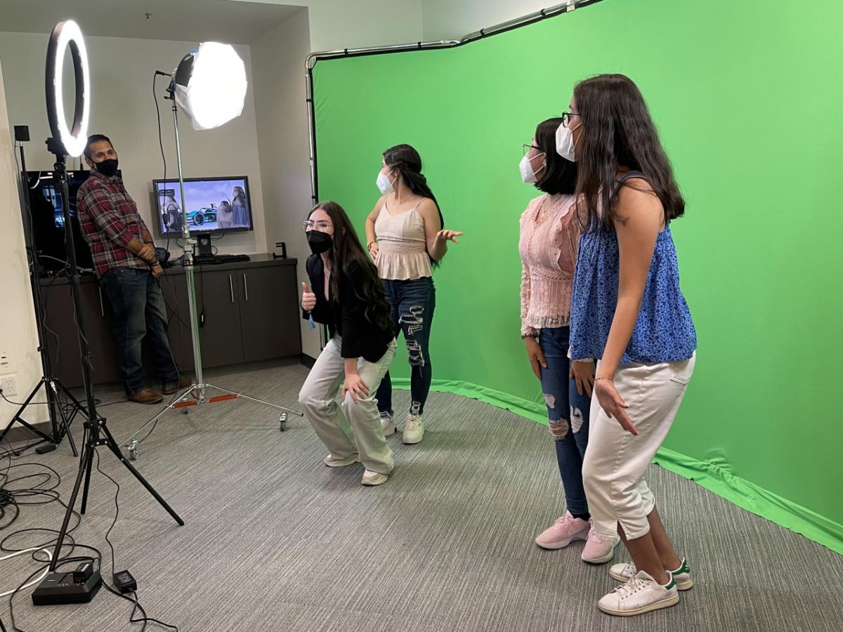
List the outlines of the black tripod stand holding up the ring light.
{"type": "Polygon", "coordinates": [[[50,562],[50,574],[41,582],[38,588],[35,589],[32,595],[32,601],[35,605],[44,605],[48,603],[79,603],[90,601],[94,593],[99,590],[100,576],[99,570],[89,576],[88,580],[83,584],[72,584],[70,586],[62,586],[62,577],[67,575],[64,573],[56,574],[56,565],[59,563],[59,557],[62,551],[62,543],[67,535],[67,526],[70,524],[70,517],[73,513],[73,506],[76,505],[76,500],[79,494],[79,488],[83,485],[82,492],[82,507],[79,511],[84,514],[88,505],[88,491],[91,481],[91,470],[94,467],[94,452],[97,447],[108,447],[111,453],[115,455],[129,472],[143,485],[146,490],[153,495],[153,498],[158,501],[158,504],[173,517],[175,522],[180,526],[185,524],[178,514],[164,501],[158,492],[155,491],[152,485],[149,485],[146,479],[138,473],[137,469],[132,467],[132,464],[126,460],[126,457],[121,453],[120,447],[117,446],[114,437],[108,427],[105,426],[105,418],[97,415],[96,404],[94,403],[94,388],[91,384],[91,354],[88,344],[88,339],[85,337],[85,324],[82,312],[81,303],[81,289],[79,285],[79,270],[76,265],[76,251],[73,249],[73,233],[70,224],[70,209],[69,198],[67,194],[67,173],[65,172],[65,153],[62,143],[53,138],[47,140],[47,147],[51,153],[56,156],[56,165],[53,170],[53,181],[56,185],[56,190],[62,193],[62,210],[64,212],[64,226],[65,226],[65,243],[67,244],[67,262],[70,265],[71,274],[71,292],[73,296],[73,312],[78,326],[79,337],[79,351],[82,356],[82,380],[85,389],[85,399],[88,412],[88,419],[84,423],[85,436],[82,447],[82,457],[79,459],[79,471],[76,476],[76,483],[73,485],[73,491],[70,495],[70,500],[67,501],[67,511],[64,514],[62,528],[59,529],[58,538],[56,539],[56,549],[52,554],[50,562]]]}

